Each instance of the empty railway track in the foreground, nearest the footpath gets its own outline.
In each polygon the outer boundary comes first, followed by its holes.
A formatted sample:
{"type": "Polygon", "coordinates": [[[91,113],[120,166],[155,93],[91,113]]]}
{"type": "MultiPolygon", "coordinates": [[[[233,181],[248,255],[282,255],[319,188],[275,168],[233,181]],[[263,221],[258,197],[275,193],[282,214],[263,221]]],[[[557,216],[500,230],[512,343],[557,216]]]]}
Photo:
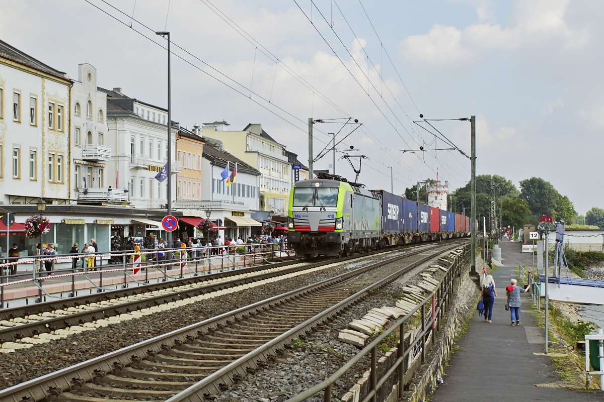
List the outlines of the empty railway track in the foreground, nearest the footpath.
{"type": "Polygon", "coordinates": [[[294,338],[461,242],[423,248],[302,287],[0,391],[2,401],[204,400],[262,368],[294,338]],[[403,268],[393,262],[413,258],[403,268]],[[67,392],[63,392],[67,391],[67,392]],[[187,395],[188,395],[187,394],[187,395]],[[201,395],[201,396],[200,396],[201,395]],[[183,399],[184,400],[184,399],[183,399]],[[188,400],[188,399],[187,399],[188,400]]]}

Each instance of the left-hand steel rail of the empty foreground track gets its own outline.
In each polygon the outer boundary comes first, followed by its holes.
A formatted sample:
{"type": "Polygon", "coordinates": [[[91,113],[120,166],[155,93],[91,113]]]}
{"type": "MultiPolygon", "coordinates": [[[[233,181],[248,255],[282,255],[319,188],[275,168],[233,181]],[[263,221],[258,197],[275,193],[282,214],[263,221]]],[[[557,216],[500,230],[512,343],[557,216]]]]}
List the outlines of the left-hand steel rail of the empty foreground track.
{"type": "MultiPolygon", "coordinates": [[[[450,248],[452,249],[456,247],[459,247],[459,245],[456,244],[450,248]]],[[[178,330],[170,331],[169,333],[147,339],[146,341],[138,342],[137,344],[133,344],[128,347],[121,348],[120,350],[112,351],[102,356],[95,357],[91,360],[87,360],[86,362],[77,363],[76,365],[60,369],[59,371],[43,375],[42,377],[34,378],[27,382],[0,391],[0,400],[3,402],[22,402],[24,400],[39,401],[49,397],[50,395],[60,394],[66,389],[72,388],[72,386],[82,385],[98,375],[111,372],[114,369],[124,368],[132,363],[141,362],[141,360],[147,359],[147,357],[155,356],[158,353],[170,350],[171,348],[182,345],[185,342],[193,341],[199,336],[204,336],[205,334],[219,330],[224,325],[240,321],[251,315],[262,313],[270,307],[277,306],[285,301],[292,300],[300,297],[301,295],[309,294],[316,289],[323,289],[324,287],[330,286],[330,284],[339,283],[347,278],[361,274],[362,272],[367,272],[371,269],[376,269],[396,260],[411,257],[415,254],[423,253],[425,251],[427,251],[426,248],[422,248],[421,250],[412,251],[411,253],[405,253],[401,256],[382,260],[381,262],[373,263],[349,272],[344,272],[336,275],[336,277],[328,278],[326,280],[301,287],[300,289],[295,289],[294,291],[289,291],[284,294],[276,295],[266,300],[250,304],[248,306],[240,307],[239,309],[231,312],[223,313],[213,318],[205,319],[204,321],[196,324],[191,324],[187,327],[179,328],[178,330]]],[[[431,259],[434,258],[434,256],[435,255],[432,255],[422,260],[431,259]]],[[[402,273],[403,272],[400,274],[402,273]]],[[[327,317],[324,318],[323,321],[325,319],[327,319],[327,317]]],[[[273,353],[277,353],[276,349],[273,353]]],[[[250,363],[257,367],[259,362],[250,363]]],[[[245,371],[245,369],[243,371],[245,371]]]]}

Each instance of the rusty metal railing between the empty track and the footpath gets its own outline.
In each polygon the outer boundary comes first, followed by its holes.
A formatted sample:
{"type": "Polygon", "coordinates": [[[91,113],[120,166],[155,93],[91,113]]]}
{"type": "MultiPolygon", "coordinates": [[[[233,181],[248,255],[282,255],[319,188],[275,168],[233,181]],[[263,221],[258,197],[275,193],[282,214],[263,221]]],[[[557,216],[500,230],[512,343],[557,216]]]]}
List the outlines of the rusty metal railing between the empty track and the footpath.
{"type": "Polygon", "coordinates": [[[398,397],[402,398],[405,378],[411,378],[414,372],[419,368],[419,361],[421,361],[421,364],[426,362],[427,349],[430,347],[430,344],[434,345],[436,342],[436,334],[439,333],[443,327],[445,313],[451,304],[451,299],[455,292],[455,285],[460,281],[461,271],[464,269],[468,260],[469,246],[464,246],[461,254],[455,257],[435,290],[420,301],[411,312],[403,318],[400,318],[388,328],[388,330],[374,339],[373,342],[367,345],[329,378],[320,384],[307,389],[301,394],[295,395],[295,397],[290,398],[286,402],[303,402],[306,398],[310,398],[321,391],[324,392],[323,400],[325,402],[330,402],[332,400],[332,385],[368,354],[370,355],[369,388],[367,395],[364,395],[362,399],[359,397],[359,401],[375,402],[379,394],[384,396],[384,394],[388,395],[390,393],[391,388],[384,385],[392,385],[393,383],[399,383],[398,397]],[[420,316],[421,320],[420,330],[417,332],[414,330],[407,331],[411,329],[411,319],[417,315],[420,316]],[[381,370],[383,374],[378,378],[377,347],[385,338],[391,334],[396,334],[396,332],[399,334],[399,341],[396,348],[396,360],[390,368],[383,368],[381,370]],[[419,360],[420,355],[421,360],[419,360]]]}

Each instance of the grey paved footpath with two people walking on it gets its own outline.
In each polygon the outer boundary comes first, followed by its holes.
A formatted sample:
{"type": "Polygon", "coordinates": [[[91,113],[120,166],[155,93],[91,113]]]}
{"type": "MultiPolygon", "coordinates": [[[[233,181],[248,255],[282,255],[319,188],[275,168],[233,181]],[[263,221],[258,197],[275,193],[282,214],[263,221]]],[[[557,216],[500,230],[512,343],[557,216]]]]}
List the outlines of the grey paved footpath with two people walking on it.
{"type": "Polygon", "coordinates": [[[444,377],[430,400],[432,402],[474,401],[604,401],[602,392],[570,391],[565,388],[539,388],[535,384],[558,381],[549,357],[533,353],[544,351],[544,330],[535,326],[525,309],[532,303],[521,294],[521,325],[510,326],[510,313],[504,309],[506,286],[516,275],[518,265],[532,265],[532,257],[522,254],[521,243],[500,242],[505,266],[492,275],[498,297],[493,306],[493,323],[475,313],[444,377]]]}

